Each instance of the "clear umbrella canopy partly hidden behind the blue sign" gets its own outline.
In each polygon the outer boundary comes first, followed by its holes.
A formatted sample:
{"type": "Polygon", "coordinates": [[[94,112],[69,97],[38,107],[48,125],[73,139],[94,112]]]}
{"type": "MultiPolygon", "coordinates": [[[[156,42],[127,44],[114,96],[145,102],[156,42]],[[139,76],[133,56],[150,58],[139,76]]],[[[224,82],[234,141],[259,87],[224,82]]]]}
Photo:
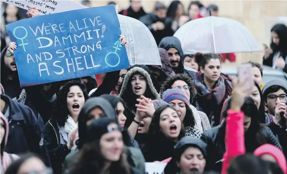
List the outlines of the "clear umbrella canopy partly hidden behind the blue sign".
{"type": "Polygon", "coordinates": [[[128,40],[127,54],[130,65],[160,65],[156,42],[148,28],[139,20],[117,15],[122,35],[128,40]]]}

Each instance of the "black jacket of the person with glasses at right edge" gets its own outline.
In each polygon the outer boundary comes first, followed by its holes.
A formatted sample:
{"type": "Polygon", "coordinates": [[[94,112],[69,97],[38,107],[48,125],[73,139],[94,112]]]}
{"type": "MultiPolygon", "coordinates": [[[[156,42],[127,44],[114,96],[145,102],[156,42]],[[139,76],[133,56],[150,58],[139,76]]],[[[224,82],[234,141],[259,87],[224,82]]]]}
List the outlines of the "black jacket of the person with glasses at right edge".
{"type": "Polygon", "coordinates": [[[268,127],[271,129],[275,137],[279,140],[285,158],[287,159],[287,129],[281,125],[277,125],[274,122],[271,122],[268,127]]]}

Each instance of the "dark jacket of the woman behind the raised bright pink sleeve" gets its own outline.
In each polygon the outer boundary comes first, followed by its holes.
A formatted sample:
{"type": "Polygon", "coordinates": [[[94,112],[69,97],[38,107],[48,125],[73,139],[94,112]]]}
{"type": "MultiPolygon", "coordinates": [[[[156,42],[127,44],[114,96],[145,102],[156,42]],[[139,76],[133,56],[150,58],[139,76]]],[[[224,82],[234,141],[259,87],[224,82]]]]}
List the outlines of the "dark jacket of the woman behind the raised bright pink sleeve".
{"type": "MultiPolygon", "coordinates": [[[[225,142],[224,135],[219,135],[219,128],[221,125],[218,125],[206,132],[201,136],[201,139],[207,143],[207,158],[205,170],[221,172],[222,168],[222,157],[225,152],[225,142]]],[[[273,135],[272,131],[268,127],[264,127],[263,135],[265,136],[266,142],[282,150],[282,147],[276,137],[273,135]]],[[[246,152],[249,151],[246,148],[246,152]]]]}

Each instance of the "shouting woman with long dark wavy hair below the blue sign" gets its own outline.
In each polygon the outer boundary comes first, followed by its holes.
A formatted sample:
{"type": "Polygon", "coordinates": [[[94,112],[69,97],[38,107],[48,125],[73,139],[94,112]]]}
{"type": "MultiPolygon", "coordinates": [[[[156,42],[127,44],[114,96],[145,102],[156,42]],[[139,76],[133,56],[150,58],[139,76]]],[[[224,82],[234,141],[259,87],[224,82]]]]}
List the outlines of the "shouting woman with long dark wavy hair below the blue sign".
{"type": "Polygon", "coordinates": [[[85,85],[72,80],[63,86],[54,102],[51,119],[43,130],[44,144],[54,174],[62,173],[65,157],[75,146],[78,115],[87,99],[85,85]]]}

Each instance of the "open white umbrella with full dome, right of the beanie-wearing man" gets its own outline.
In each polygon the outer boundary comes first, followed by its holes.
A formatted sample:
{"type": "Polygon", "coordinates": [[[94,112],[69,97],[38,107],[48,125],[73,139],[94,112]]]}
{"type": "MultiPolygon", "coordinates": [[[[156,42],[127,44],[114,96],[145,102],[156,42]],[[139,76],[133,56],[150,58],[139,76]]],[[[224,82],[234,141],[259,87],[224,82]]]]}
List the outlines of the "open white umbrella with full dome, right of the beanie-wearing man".
{"type": "Polygon", "coordinates": [[[261,46],[241,23],[209,16],[187,22],[175,33],[186,53],[259,52],[261,46]]]}

